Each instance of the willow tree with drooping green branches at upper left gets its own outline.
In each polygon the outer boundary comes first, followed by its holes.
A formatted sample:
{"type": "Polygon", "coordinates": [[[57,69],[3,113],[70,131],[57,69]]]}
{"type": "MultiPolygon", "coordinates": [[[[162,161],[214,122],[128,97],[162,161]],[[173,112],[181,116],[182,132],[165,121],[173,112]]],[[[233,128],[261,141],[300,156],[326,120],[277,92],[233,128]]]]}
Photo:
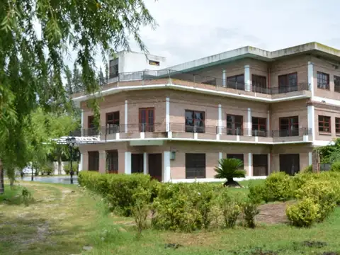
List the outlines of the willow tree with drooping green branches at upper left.
{"type": "MultiPolygon", "coordinates": [[[[74,50],[86,94],[99,89],[96,52],[130,50],[129,38],[147,52],[142,26],[154,19],[142,0],[0,0],[0,176],[3,167],[26,164],[28,130],[38,108],[65,107],[64,57],[74,50]],[[37,28],[36,24],[41,28],[37,28]],[[8,155],[11,153],[11,155],[8,155]],[[3,166],[3,167],[2,167],[3,166]]],[[[92,105],[98,119],[98,102],[92,105]]],[[[0,193],[4,180],[0,179],[0,193]]]]}

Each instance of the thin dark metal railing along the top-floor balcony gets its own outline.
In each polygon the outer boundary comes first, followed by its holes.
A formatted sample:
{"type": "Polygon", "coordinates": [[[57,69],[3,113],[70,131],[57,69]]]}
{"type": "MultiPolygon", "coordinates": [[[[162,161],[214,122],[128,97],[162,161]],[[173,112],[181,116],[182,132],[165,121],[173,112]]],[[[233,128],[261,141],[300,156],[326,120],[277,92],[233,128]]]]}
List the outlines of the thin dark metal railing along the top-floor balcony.
{"type": "MultiPolygon", "coordinates": [[[[261,94],[285,94],[294,91],[310,90],[309,84],[299,83],[287,86],[271,86],[270,88],[258,86],[256,84],[247,84],[244,82],[228,81],[227,79],[220,79],[216,77],[208,77],[202,74],[185,73],[174,70],[158,70],[158,71],[142,71],[142,72],[129,72],[119,73],[115,77],[106,77],[98,80],[100,86],[107,84],[114,84],[123,81],[152,81],[155,79],[169,79],[171,81],[188,81],[193,84],[204,84],[211,86],[211,88],[225,88],[235,89],[239,91],[252,91],[261,94]]],[[[73,93],[79,93],[84,89],[77,89],[73,93]]]]}

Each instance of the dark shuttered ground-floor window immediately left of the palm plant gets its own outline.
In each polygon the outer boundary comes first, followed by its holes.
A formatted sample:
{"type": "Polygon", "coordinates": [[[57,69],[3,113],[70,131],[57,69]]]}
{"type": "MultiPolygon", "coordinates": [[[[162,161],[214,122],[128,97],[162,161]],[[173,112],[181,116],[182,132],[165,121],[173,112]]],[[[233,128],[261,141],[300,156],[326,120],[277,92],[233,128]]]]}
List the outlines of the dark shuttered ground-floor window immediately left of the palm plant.
{"type": "Polygon", "coordinates": [[[186,153],[186,179],[205,178],[205,153],[186,153]]]}

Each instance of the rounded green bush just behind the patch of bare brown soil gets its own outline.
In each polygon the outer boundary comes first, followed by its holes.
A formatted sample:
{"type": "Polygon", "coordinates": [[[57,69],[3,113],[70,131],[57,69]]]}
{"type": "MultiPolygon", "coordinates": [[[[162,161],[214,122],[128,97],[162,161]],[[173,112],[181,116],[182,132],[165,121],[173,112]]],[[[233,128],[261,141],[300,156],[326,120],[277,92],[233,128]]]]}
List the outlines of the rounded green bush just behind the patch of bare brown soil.
{"type": "Polygon", "coordinates": [[[285,172],[273,173],[267,177],[264,185],[268,200],[286,201],[293,196],[290,184],[290,176],[285,172]]]}

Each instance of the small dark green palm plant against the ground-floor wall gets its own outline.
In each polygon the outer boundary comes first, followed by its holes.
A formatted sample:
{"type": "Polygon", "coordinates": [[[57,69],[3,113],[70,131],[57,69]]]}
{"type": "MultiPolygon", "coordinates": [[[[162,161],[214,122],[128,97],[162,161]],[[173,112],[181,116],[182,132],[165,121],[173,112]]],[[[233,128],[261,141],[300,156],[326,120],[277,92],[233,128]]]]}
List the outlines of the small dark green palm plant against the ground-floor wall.
{"type": "Polygon", "coordinates": [[[243,169],[243,162],[240,159],[220,159],[219,166],[215,167],[215,178],[227,179],[224,186],[241,187],[234,178],[244,178],[246,171],[243,169]]]}

